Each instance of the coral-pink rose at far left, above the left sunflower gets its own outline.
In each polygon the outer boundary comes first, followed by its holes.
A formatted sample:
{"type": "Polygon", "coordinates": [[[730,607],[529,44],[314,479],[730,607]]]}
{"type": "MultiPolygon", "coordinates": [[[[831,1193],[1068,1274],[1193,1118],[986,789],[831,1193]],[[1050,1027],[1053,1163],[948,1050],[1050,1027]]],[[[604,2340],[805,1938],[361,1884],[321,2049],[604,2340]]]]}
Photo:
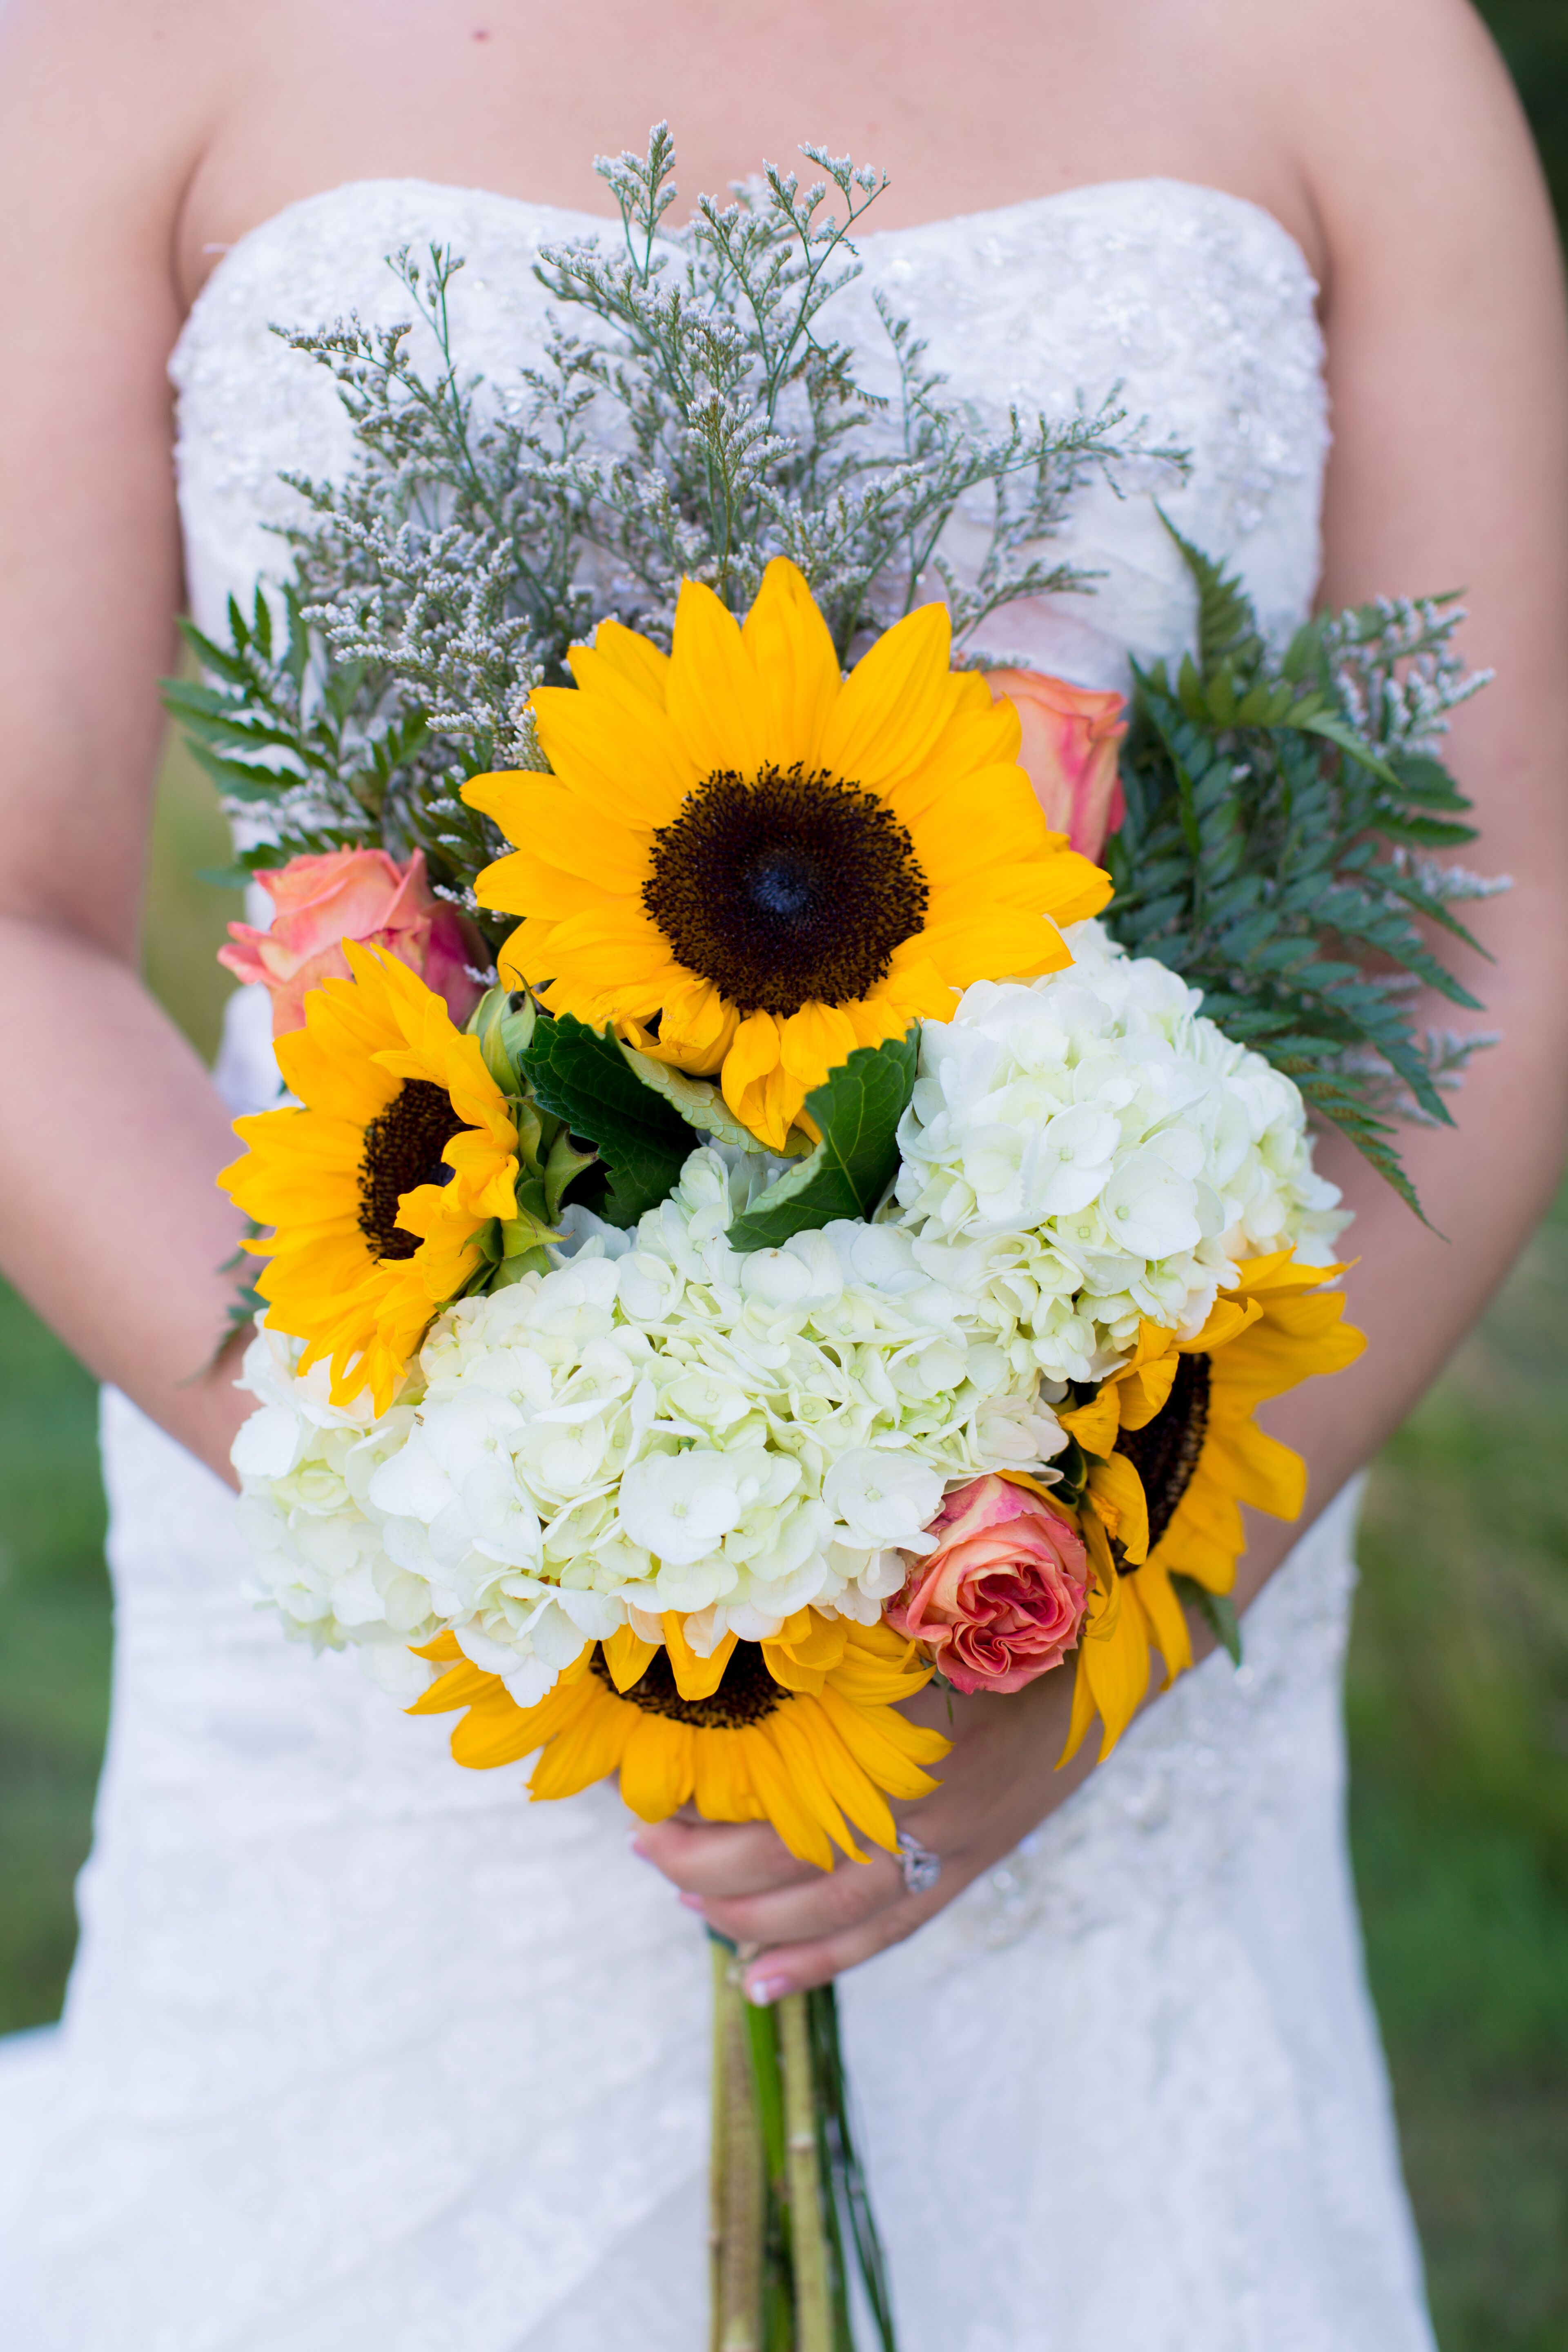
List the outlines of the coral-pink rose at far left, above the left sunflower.
{"type": "Polygon", "coordinates": [[[256,882],[277,908],[273,927],[230,922],[235,946],[219,948],[219,962],[273,990],[273,1037],[306,1025],[308,988],[350,978],[346,938],[388,948],[447,1000],[458,1028],[484,995],[468,967],[489,964],[489,950],[473,922],[425,882],[423,849],[407,866],[386,849],[334,849],[322,858],[289,858],[256,882]]]}

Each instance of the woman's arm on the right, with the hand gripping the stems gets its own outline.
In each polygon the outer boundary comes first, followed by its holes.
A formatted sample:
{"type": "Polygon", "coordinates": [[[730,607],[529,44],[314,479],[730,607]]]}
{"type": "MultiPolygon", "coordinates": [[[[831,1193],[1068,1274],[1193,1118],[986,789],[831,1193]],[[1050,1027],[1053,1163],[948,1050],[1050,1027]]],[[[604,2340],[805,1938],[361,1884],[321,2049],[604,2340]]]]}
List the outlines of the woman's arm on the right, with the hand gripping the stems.
{"type": "MultiPolygon", "coordinates": [[[[1474,795],[1483,870],[1514,891],[1474,910],[1495,964],[1467,957],[1505,1040],[1472,1065],[1458,1131],[1403,1136],[1436,1232],[1338,1141],[1361,1263],[1349,1315],[1366,1355],[1274,1409],[1312,1470],[1309,1512],[1408,1414],[1547,1207],[1568,1105],[1568,358],[1556,238],[1514,94],[1460,0],[1239,0],[1274,42],[1279,136],[1300,155],[1331,256],[1326,329],[1335,449],[1324,602],[1462,588],[1465,649],[1495,666],[1460,713],[1453,760],[1474,795]],[[1446,1240],[1439,1240],[1443,1235],[1446,1240]]],[[[1472,913],[1467,908],[1467,913],[1472,913]]],[[[1434,1025],[1453,1023],[1434,1007],[1434,1025]]],[[[1251,1599],[1300,1529],[1251,1517],[1237,1597],[1251,1599]]],[[[1413,1529],[1413,1541],[1420,1531],[1413,1529]]],[[[820,1877],[769,1830],[665,1823],[642,1851],[715,1926],[769,1945],[752,1985],[823,1983],[900,1940],[1091,1769],[1053,1771],[1067,1675],[1011,1698],[954,1698],[943,1790],[903,1809],[945,1856],[938,1889],[896,1867],[820,1877]]],[[[945,1703],[922,1710],[947,1729],[945,1703]]],[[[1093,1745],[1093,1740],[1091,1740],[1093,1745]]]]}

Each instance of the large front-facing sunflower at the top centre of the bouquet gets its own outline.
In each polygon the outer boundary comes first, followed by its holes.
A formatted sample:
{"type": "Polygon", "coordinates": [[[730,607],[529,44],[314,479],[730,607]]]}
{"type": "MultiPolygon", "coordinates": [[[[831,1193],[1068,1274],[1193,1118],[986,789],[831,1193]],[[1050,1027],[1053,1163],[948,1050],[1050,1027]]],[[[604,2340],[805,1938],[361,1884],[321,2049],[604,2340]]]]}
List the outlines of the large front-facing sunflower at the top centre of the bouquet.
{"type": "Polygon", "coordinates": [[[686,581],[675,649],[604,621],[531,699],[552,774],[463,797],[520,847],[477,880],[522,915],[512,985],[693,1077],[783,1150],[856,1047],[947,1021],[980,978],[1072,962],[1110,880],[1051,833],[1018,713],[954,673],[922,604],[849,677],[795,564],[738,623],[686,581]]]}

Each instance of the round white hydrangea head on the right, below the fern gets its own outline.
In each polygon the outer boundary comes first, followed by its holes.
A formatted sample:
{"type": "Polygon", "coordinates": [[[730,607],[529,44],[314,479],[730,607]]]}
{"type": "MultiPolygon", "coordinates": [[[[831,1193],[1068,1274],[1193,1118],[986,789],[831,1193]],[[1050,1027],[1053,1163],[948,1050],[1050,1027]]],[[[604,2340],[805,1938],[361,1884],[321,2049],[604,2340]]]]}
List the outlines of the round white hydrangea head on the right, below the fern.
{"type": "Polygon", "coordinates": [[[1100,1378],[1147,1317],[1197,1331],[1237,1258],[1331,1263],[1340,1192],[1298,1087],[1098,922],[1041,981],[978,981],[926,1021],[896,1223],[936,1282],[1023,1329],[1053,1381],[1100,1378]]]}

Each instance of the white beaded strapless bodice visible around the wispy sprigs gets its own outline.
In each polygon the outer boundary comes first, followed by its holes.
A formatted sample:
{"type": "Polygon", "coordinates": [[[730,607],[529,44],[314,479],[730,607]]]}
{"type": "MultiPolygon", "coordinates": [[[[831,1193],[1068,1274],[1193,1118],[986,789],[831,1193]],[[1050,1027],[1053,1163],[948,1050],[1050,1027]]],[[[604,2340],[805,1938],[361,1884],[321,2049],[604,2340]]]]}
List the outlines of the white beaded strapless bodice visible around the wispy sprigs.
{"type": "MultiPolygon", "coordinates": [[[[324,477],[350,454],[329,376],[273,327],[317,327],[348,310],[374,325],[407,318],[386,256],[451,245],[468,263],[451,292],[458,358],[503,390],[541,350],[550,306],[534,278],[541,245],[595,228],[611,223],[390,179],[310,195],[230,247],[172,362],[197,621],[221,628],[228,593],[287,569],[268,524],[299,513],[299,496],[280,473],[324,477]]],[[[870,233],[860,259],[863,275],[832,299],[825,325],[863,353],[872,388],[884,367],[891,383],[872,301],[884,294],[952,395],[987,419],[1001,421],[1011,405],[1065,416],[1121,386],[1147,437],[1192,456],[1185,485],[1161,473],[1119,499],[1091,482],[1060,553],[1100,574],[1093,595],[1006,607],[992,654],[1119,687],[1128,652],[1150,661],[1187,642],[1192,590],[1154,487],[1190,539],[1241,569],[1274,635],[1302,619],[1319,569],[1326,395],[1316,287],[1272,214],[1185,181],[1107,181],[870,233]]],[[[959,515],[947,546],[959,572],[978,546],[978,520],[959,515]]]]}

